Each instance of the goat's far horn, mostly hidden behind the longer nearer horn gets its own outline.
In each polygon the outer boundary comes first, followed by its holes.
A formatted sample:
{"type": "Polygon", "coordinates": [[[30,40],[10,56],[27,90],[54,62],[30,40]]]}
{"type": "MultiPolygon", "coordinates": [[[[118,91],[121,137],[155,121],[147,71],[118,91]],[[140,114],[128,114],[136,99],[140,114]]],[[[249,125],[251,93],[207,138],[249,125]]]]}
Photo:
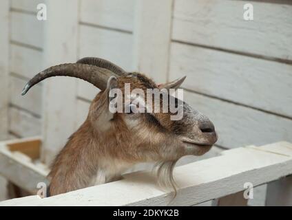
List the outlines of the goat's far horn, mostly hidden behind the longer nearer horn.
{"type": "Polygon", "coordinates": [[[121,67],[118,67],[114,63],[107,61],[103,58],[85,57],[85,58],[80,59],[76,63],[90,64],[90,65],[94,65],[96,67],[109,69],[110,71],[114,72],[118,76],[122,76],[122,75],[127,74],[127,72],[125,72],[125,70],[123,70],[121,67]]]}

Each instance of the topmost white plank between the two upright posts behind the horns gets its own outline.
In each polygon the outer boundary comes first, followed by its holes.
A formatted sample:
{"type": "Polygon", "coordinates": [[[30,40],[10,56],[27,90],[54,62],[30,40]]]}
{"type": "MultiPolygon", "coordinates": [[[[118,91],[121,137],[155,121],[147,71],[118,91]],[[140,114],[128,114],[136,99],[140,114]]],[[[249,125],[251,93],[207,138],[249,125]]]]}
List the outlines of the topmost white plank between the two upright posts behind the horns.
{"type": "Polygon", "coordinates": [[[134,0],[81,0],[80,20],[107,28],[133,30],[134,0]]]}

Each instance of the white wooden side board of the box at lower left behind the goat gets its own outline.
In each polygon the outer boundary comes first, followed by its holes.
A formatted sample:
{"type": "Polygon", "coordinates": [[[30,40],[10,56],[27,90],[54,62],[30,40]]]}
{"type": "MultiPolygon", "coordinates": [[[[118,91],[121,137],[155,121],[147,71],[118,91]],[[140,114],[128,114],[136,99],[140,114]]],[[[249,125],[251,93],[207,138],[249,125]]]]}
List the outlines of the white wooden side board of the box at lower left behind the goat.
{"type": "Polygon", "coordinates": [[[48,172],[48,168],[35,166],[30,157],[8,151],[5,145],[0,146],[0,174],[24,190],[35,192],[39,182],[48,184],[45,178],[48,172]]]}

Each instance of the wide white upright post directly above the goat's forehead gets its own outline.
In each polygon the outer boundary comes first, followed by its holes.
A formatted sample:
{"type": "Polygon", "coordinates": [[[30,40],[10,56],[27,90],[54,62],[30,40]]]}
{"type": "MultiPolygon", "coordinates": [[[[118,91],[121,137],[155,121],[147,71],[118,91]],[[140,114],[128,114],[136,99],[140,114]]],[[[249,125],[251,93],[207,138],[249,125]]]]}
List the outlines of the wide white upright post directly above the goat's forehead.
{"type": "Polygon", "coordinates": [[[136,2],[134,69],[157,83],[167,81],[173,1],[136,2]]]}

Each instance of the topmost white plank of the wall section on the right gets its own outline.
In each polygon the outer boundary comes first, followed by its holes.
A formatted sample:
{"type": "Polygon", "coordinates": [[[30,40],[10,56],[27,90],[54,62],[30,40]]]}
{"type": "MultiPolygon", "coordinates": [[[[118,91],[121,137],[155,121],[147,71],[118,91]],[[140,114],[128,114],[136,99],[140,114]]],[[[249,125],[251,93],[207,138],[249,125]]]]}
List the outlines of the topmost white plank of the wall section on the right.
{"type": "Polygon", "coordinates": [[[176,0],[172,39],[292,60],[292,5],[253,1],[245,21],[245,3],[176,0]]]}

